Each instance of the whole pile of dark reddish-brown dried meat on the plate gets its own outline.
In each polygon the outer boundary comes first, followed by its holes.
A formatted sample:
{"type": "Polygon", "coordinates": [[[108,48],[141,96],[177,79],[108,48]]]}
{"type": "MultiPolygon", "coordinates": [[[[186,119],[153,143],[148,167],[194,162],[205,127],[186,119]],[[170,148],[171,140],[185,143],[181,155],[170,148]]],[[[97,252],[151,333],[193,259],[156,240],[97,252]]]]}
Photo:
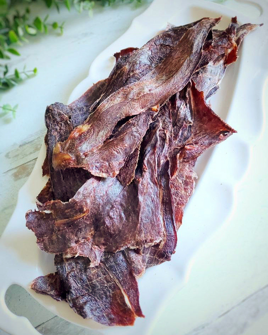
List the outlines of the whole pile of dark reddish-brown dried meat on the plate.
{"type": "Polygon", "coordinates": [[[49,181],[26,225],[55,254],[56,272],[36,278],[36,292],[105,325],[144,317],[137,279],[175,252],[196,159],[235,132],[206,100],[257,25],[232,18],[213,29],[219,21],[121,50],[107,79],[47,108],[49,181]]]}

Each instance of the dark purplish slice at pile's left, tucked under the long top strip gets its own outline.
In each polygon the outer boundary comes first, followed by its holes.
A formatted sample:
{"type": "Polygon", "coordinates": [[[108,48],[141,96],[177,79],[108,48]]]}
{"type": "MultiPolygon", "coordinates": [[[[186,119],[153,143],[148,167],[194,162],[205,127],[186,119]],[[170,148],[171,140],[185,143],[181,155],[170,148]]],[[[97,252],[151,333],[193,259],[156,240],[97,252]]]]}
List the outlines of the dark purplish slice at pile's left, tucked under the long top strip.
{"type": "MultiPolygon", "coordinates": [[[[52,153],[58,141],[67,139],[70,132],[87,119],[90,107],[99,99],[104,86],[105,80],[100,80],[70,105],[65,106],[55,103],[46,109],[45,124],[47,134],[45,144],[47,150],[43,164],[43,175],[50,176],[52,192],[49,200],[60,199],[68,201],[90,178],[90,174],[82,169],[66,169],[64,172],[55,171],[52,166],[52,153]],[[66,180],[68,180],[68,184],[66,184],[66,180]]],[[[39,198],[41,199],[41,196],[39,198]]]]}

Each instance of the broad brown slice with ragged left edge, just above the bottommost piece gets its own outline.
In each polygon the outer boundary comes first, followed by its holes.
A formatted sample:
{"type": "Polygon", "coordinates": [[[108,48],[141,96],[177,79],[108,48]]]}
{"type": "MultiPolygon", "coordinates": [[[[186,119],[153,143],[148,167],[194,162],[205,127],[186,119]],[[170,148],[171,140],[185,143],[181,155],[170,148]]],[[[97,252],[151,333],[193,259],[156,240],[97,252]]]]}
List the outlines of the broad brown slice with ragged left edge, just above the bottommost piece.
{"type": "Polygon", "coordinates": [[[34,231],[42,250],[88,257],[91,266],[96,266],[105,250],[115,253],[161,241],[158,128],[143,147],[139,175],[129,186],[116,178],[91,178],[69,202],[51,201],[43,207],[45,211],[26,214],[27,227],[34,231]]]}

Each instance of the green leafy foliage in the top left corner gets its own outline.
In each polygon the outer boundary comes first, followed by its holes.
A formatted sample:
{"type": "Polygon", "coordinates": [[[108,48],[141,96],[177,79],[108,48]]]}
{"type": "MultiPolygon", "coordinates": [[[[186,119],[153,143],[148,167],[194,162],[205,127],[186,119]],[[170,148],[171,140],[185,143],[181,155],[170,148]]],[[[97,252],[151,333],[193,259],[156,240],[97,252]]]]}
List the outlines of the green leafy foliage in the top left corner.
{"type": "MultiPolygon", "coordinates": [[[[140,3],[142,0],[128,0],[129,2],[140,3]]],[[[42,2],[47,8],[56,8],[60,13],[62,8],[68,11],[72,9],[78,13],[88,12],[92,16],[95,2],[101,3],[103,6],[111,5],[118,2],[123,3],[124,0],[0,0],[0,61],[3,59],[5,63],[0,62],[0,93],[17,86],[23,80],[37,74],[37,68],[33,70],[19,71],[17,68],[10,73],[9,66],[6,62],[12,56],[20,56],[18,46],[28,43],[30,39],[36,35],[48,34],[48,32],[56,31],[63,34],[64,22],[49,22],[49,16],[44,18],[37,16],[31,18],[31,4],[42,2]],[[25,3],[23,10],[15,10],[16,3],[25,3]]],[[[21,6],[20,6],[21,8],[21,6]]],[[[10,104],[0,106],[2,112],[0,117],[12,114],[15,118],[18,105],[12,107],[10,104]]]]}

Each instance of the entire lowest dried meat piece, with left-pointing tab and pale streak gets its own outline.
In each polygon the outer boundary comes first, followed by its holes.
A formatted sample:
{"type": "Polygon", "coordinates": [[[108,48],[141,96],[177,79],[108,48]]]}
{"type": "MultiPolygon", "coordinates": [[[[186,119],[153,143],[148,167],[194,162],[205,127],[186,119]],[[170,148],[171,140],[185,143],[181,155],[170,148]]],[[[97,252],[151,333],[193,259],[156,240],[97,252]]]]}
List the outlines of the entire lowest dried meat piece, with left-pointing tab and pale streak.
{"type": "Polygon", "coordinates": [[[132,325],[137,316],[144,317],[138,283],[124,253],[107,253],[95,268],[89,263],[84,257],[64,259],[57,255],[57,272],[36,278],[31,288],[66,300],[82,317],[105,325],[132,325]]]}

